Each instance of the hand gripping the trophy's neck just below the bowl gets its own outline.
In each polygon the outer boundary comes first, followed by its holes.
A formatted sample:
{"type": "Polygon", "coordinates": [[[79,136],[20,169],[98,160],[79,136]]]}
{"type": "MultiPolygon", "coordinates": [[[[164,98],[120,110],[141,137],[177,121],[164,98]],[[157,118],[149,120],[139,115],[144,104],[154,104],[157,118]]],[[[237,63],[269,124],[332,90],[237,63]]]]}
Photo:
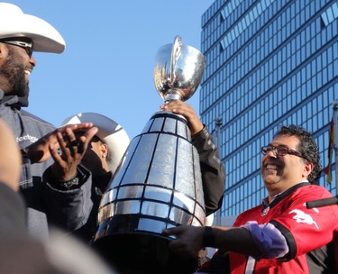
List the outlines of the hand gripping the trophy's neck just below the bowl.
{"type": "Polygon", "coordinates": [[[170,100],[165,104],[160,105],[164,111],[172,112],[173,114],[180,114],[187,119],[187,126],[191,132],[191,136],[203,130],[203,123],[197,116],[194,108],[180,100],[170,100]]]}

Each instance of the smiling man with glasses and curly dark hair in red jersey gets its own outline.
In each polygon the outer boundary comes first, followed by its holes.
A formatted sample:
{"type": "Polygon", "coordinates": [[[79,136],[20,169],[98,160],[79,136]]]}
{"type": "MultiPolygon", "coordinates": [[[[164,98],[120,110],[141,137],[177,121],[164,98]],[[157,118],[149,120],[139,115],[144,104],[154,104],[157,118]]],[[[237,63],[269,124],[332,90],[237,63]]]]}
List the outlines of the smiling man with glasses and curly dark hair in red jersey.
{"type": "Polygon", "coordinates": [[[261,152],[268,191],[262,205],[239,215],[233,227],[168,229],[164,234],[177,236],[171,250],[196,257],[204,246],[219,249],[202,273],[337,273],[338,206],[306,207],[332,197],[313,184],[321,172],[314,138],[295,125],[282,126],[261,152]]]}

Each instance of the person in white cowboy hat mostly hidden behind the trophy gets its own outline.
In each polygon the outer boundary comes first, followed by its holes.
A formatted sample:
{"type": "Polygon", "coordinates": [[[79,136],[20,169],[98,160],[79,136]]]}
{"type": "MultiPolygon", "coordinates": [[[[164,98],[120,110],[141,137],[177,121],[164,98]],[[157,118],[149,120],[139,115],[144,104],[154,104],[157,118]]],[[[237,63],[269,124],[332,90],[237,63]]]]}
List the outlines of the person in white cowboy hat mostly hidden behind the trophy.
{"type": "MultiPolygon", "coordinates": [[[[224,194],[225,170],[222,161],[219,159],[217,147],[215,146],[211,134],[206,129],[206,126],[201,123],[191,105],[187,105],[182,101],[173,100],[164,105],[160,105],[160,107],[166,112],[180,114],[187,119],[187,125],[192,136],[191,142],[196,147],[196,151],[199,154],[202,185],[206,204],[206,222],[209,222],[206,225],[210,225],[213,220],[213,214],[222,205],[224,194]]],[[[85,168],[90,171],[91,177],[88,179],[91,179],[93,183],[92,200],[94,206],[87,224],[82,226],[75,233],[86,242],[91,242],[92,237],[96,233],[96,219],[101,197],[105,192],[105,188],[108,186],[109,182],[111,182],[116,169],[116,165],[114,165],[114,167],[109,167],[107,164],[107,155],[111,154],[109,158],[113,158],[116,162],[119,162],[123,157],[123,153],[116,150],[123,148],[124,151],[127,147],[125,141],[128,140],[129,143],[129,138],[127,138],[126,133],[124,133],[123,136],[120,136],[122,139],[120,138],[120,140],[115,140],[115,142],[109,142],[110,138],[113,138],[114,135],[117,136],[118,133],[121,135],[124,130],[120,125],[101,114],[77,114],[69,117],[62,124],[84,122],[93,123],[98,128],[96,136],[88,146],[87,153],[82,159],[72,160],[69,158],[69,161],[67,162],[67,160],[61,159],[56,151],[51,152],[52,155],[55,155],[53,156],[55,162],[51,165],[50,169],[47,169],[44,178],[46,182],[52,182],[59,177],[59,175],[68,176],[65,174],[71,169],[72,175],[69,175],[70,177],[77,174],[76,169],[79,171],[80,169],[85,168]],[[69,168],[67,168],[68,166],[69,168]],[[59,170],[59,172],[55,172],[55,170],[59,170]]],[[[98,247],[98,249],[100,249],[100,247],[98,247]]],[[[105,251],[103,253],[105,253],[105,251]]],[[[130,266],[132,268],[135,267],[133,264],[130,266]]],[[[133,271],[134,269],[130,270],[133,271]]]]}

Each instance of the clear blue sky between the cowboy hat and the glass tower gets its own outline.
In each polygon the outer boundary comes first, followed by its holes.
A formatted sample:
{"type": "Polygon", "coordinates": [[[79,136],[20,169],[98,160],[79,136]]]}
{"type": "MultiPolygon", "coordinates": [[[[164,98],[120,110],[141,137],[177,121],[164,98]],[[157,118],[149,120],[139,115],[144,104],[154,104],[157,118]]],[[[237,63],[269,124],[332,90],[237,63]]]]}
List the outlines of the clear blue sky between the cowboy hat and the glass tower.
{"type": "MultiPolygon", "coordinates": [[[[105,114],[132,139],[162,103],[152,77],[157,50],[176,35],[200,50],[201,17],[214,0],[8,2],[52,24],[67,44],[62,54],[33,53],[27,110],[56,126],[80,112],[105,114]]],[[[187,101],[197,113],[198,101],[199,88],[187,101]]]]}

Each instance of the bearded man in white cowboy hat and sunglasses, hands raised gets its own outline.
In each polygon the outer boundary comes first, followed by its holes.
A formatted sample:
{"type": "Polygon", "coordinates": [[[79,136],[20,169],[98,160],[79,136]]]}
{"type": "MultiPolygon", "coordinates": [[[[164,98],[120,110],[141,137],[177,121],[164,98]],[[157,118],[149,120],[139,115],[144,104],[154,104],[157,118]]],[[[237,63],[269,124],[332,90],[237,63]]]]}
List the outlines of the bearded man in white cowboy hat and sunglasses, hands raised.
{"type": "MultiPolygon", "coordinates": [[[[77,189],[67,191],[41,183],[43,171],[52,162],[48,159],[48,145],[49,142],[58,142],[58,131],[53,132],[53,125],[23,110],[28,105],[29,77],[37,64],[32,56],[33,51],[61,53],[64,49],[65,41],[50,23],[23,14],[16,5],[0,3],[0,116],[14,132],[23,151],[19,186],[27,205],[29,232],[43,239],[48,238],[50,224],[56,224],[66,231],[77,229],[87,222],[91,209],[91,204],[87,203],[90,197],[86,197],[90,193],[87,187],[90,189],[91,186],[79,184],[77,189]],[[47,138],[41,140],[49,133],[47,138]],[[46,144],[42,151],[37,151],[36,146],[32,147],[38,140],[46,144]]],[[[93,131],[92,126],[87,124],[82,130],[93,131]]],[[[66,129],[61,131],[67,135],[66,129]]],[[[65,140],[74,141],[69,138],[73,137],[66,137],[65,140]]],[[[86,136],[83,138],[86,139],[86,136]]],[[[87,142],[82,144],[85,148],[87,142]]],[[[71,147],[68,149],[72,150],[71,147]]]]}

